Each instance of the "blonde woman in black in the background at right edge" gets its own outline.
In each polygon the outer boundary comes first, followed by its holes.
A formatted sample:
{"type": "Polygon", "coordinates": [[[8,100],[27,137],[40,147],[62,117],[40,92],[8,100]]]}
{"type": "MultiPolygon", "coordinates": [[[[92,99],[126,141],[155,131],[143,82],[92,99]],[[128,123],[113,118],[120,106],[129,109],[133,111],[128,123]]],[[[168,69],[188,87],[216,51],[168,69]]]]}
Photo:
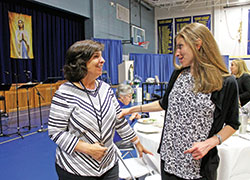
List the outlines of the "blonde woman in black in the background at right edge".
{"type": "Polygon", "coordinates": [[[239,86],[240,104],[244,106],[250,101],[250,71],[242,59],[233,60],[230,69],[239,86]]]}

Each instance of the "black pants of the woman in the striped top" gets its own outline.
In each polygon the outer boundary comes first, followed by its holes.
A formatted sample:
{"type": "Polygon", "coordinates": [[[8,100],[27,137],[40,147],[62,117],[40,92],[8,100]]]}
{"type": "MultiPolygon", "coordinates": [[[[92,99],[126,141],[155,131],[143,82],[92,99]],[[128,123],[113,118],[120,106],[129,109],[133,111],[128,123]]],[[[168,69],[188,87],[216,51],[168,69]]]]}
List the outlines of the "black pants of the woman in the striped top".
{"type": "Polygon", "coordinates": [[[119,167],[118,163],[114,165],[110,170],[104,173],[100,177],[95,176],[77,176],[63,170],[60,166],[56,164],[56,172],[59,180],[118,180],[119,179],[119,167]]]}

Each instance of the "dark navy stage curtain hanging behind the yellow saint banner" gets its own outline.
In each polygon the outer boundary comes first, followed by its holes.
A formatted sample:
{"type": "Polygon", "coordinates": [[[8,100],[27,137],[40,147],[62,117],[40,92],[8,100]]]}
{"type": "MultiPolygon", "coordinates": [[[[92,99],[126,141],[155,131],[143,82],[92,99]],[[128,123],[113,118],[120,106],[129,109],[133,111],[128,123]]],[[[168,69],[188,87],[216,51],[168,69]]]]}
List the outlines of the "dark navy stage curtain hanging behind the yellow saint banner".
{"type": "Polygon", "coordinates": [[[0,2],[0,83],[43,82],[48,77],[62,77],[66,50],[84,39],[84,18],[39,3],[20,0],[0,2]],[[8,11],[32,16],[34,59],[10,58],[8,11]],[[6,72],[9,72],[7,74],[6,72]],[[16,76],[17,75],[17,76],[16,76]]]}

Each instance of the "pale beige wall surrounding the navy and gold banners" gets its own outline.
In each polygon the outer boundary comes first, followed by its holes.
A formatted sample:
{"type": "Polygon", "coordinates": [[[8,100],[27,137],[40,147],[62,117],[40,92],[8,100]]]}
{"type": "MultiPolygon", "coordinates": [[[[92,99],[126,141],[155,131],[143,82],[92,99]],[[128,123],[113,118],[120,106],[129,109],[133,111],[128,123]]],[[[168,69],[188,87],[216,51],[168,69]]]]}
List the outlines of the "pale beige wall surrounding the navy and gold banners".
{"type": "MultiPolygon", "coordinates": [[[[247,33],[248,33],[248,9],[250,6],[240,6],[234,8],[209,7],[197,9],[159,9],[155,10],[156,39],[157,20],[193,16],[202,14],[212,15],[212,33],[219,45],[223,55],[243,56],[247,55],[247,33]],[[239,42],[239,27],[242,22],[241,42],[239,42]]],[[[158,47],[156,42],[156,47],[158,47]]]]}

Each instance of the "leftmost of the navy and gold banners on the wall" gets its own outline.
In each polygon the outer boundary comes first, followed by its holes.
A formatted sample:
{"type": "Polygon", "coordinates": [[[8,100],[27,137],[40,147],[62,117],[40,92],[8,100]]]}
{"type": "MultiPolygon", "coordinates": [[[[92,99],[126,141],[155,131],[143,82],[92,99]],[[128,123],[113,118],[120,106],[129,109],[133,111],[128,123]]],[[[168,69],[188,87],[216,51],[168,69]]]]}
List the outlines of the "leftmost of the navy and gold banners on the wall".
{"type": "Polygon", "coordinates": [[[173,53],[173,19],[158,20],[158,53],[173,53]]]}

